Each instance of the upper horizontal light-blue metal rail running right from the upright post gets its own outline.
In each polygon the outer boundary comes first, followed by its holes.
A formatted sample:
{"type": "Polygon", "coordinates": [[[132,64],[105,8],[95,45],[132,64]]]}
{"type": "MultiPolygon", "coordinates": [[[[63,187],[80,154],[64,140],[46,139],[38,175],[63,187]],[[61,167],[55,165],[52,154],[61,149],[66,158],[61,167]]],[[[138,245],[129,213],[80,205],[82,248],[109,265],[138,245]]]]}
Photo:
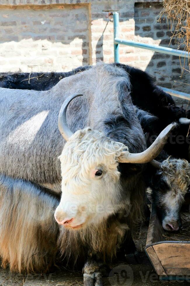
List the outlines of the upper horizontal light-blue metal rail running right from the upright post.
{"type": "MultiPolygon", "coordinates": [[[[174,55],[174,56],[178,56],[178,57],[181,56],[181,57],[187,57],[188,58],[188,53],[184,52],[182,50],[176,50],[176,49],[166,48],[166,47],[162,47],[162,46],[144,44],[144,43],[130,41],[130,40],[122,40],[122,39],[119,39],[118,37],[114,37],[114,46],[116,44],[122,44],[122,45],[131,46],[131,47],[135,47],[135,48],[142,48],[142,49],[152,50],[152,51],[159,52],[159,53],[164,53],[164,54],[174,55]]],[[[190,56],[190,54],[189,54],[189,56],[190,56]]]]}

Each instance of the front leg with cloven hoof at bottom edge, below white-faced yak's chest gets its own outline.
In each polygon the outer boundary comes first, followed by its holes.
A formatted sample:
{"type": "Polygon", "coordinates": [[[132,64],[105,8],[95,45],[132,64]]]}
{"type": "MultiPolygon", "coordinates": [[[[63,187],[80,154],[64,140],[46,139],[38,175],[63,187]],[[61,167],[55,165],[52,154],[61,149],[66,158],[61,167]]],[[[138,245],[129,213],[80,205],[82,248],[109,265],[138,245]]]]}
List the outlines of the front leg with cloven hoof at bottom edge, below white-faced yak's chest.
{"type": "Polygon", "coordinates": [[[107,276],[109,267],[94,255],[88,257],[83,267],[84,286],[103,286],[102,275],[107,276]]]}

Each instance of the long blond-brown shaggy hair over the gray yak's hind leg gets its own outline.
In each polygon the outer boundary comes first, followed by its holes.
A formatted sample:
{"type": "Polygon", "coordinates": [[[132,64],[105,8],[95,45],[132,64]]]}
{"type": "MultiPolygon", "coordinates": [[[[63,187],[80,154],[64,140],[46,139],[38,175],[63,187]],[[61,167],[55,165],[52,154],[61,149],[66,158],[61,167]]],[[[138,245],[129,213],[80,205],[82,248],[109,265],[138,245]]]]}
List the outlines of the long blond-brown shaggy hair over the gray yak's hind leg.
{"type": "MultiPolygon", "coordinates": [[[[0,255],[11,271],[41,272],[55,262],[57,198],[30,182],[0,175],[0,255]]],[[[44,273],[44,272],[43,272],[44,273]]]]}

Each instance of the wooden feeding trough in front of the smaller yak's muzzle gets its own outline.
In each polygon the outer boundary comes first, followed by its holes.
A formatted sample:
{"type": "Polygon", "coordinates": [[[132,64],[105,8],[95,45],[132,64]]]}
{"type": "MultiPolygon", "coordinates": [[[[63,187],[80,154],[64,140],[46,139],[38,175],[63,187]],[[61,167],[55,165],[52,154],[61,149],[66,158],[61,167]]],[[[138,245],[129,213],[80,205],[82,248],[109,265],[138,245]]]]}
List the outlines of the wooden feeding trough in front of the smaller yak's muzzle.
{"type": "MultiPolygon", "coordinates": [[[[189,194],[186,205],[189,204],[189,194]]],[[[161,280],[190,280],[190,241],[165,240],[152,205],[145,251],[161,280]],[[189,275],[186,276],[186,275],[189,275]]]]}

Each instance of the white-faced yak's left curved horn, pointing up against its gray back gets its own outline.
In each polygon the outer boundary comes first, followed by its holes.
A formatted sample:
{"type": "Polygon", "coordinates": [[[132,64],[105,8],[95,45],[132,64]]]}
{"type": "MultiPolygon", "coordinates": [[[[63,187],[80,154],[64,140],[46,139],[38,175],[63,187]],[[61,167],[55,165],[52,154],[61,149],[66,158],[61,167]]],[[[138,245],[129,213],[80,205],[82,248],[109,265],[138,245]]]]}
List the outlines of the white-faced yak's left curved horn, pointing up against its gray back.
{"type": "Polygon", "coordinates": [[[69,129],[69,126],[67,125],[67,120],[66,120],[66,111],[69,103],[77,96],[81,96],[83,94],[81,93],[74,93],[71,96],[67,97],[66,100],[63,102],[62,107],[59,112],[59,118],[58,118],[58,128],[63,136],[63,138],[67,141],[73,133],[69,129]]]}

